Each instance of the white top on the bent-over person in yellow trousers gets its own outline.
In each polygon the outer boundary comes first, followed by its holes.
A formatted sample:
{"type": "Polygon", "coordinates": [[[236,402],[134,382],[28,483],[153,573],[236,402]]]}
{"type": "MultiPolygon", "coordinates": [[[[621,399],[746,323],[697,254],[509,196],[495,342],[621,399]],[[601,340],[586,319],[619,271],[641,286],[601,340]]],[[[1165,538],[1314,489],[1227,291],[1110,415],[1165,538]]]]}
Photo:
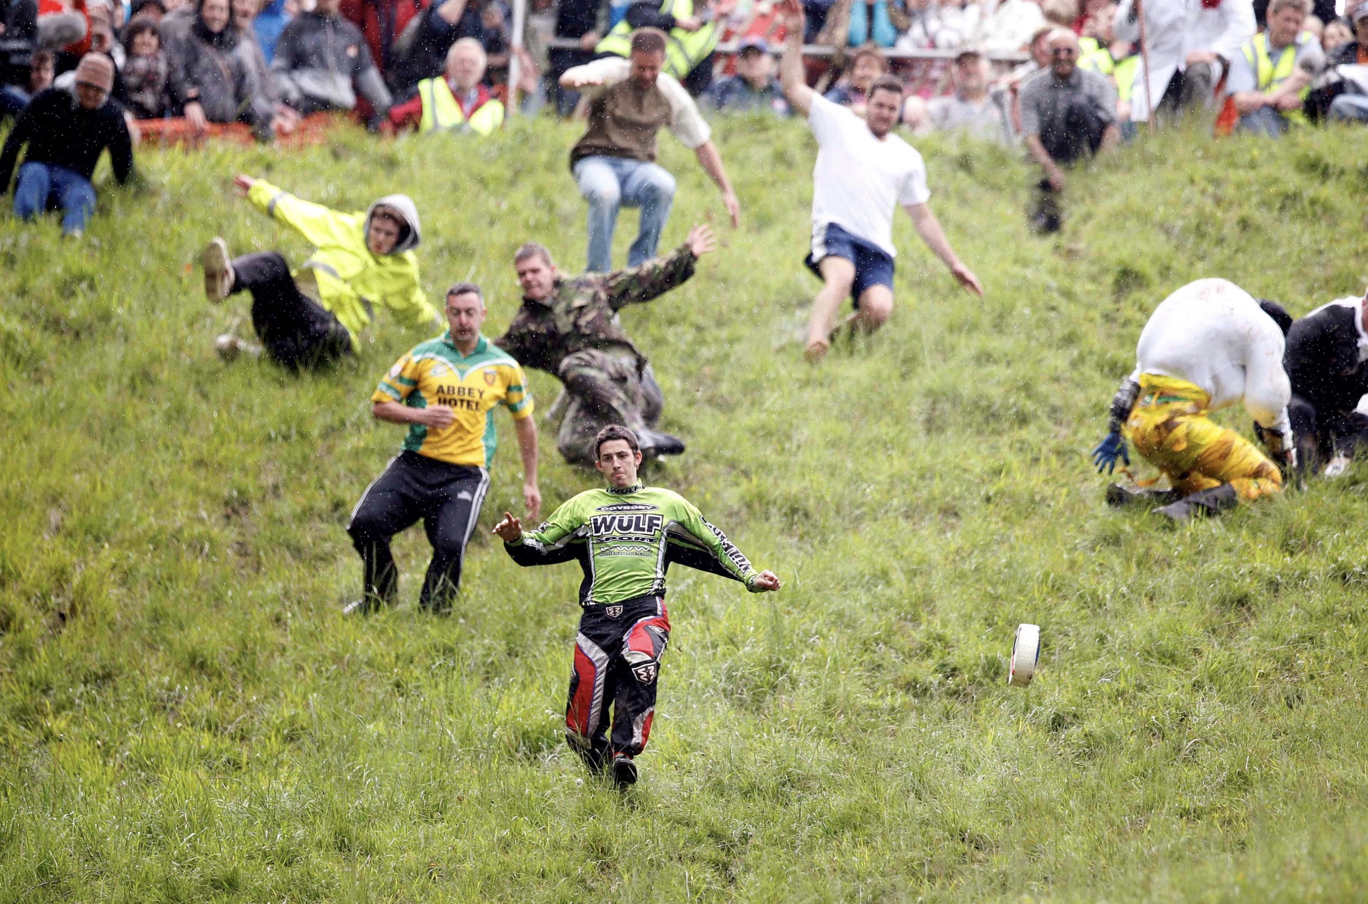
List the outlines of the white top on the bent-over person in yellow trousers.
{"type": "Polygon", "coordinates": [[[1155,309],[1140,334],[1135,372],[1171,376],[1211,397],[1209,410],[1244,399],[1259,424],[1291,436],[1285,339],[1248,291],[1227,279],[1187,283],[1155,309]]]}

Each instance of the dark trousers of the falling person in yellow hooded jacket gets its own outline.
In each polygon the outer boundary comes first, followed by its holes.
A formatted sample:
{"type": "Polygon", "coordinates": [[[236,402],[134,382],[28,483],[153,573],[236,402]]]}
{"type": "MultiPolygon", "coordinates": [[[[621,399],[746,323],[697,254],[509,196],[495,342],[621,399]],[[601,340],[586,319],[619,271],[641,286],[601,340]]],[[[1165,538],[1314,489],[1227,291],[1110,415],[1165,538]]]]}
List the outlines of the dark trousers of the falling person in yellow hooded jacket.
{"type": "Polygon", "coordinates": [[[352,353],[352,336],[331,312],[294,284],[290,264],[275,252],[233,261],[231,291],[252,293],[252,325],[272,360],[289,368],[317,367],[352,353]]]}

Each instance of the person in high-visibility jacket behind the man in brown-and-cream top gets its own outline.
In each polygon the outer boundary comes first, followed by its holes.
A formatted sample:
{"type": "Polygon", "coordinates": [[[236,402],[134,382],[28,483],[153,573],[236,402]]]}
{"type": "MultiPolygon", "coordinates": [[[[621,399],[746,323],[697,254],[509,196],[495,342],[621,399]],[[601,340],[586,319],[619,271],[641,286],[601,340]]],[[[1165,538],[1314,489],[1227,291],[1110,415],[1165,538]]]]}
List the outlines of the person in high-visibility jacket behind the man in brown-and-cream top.
{"type": "Polygon", "coordinates": [[[662,71],[683,82],[696,97],[713,81],[711,64],[703,63],[717,49],[722,21],[732,5],[733,0],[718,0],[694,15],[694,0],[639,0],[627,8],[627,15],[603,36],[594,52],[599,56],[629,56],[632,31],[659,29],[668,38],[662,71]]]}

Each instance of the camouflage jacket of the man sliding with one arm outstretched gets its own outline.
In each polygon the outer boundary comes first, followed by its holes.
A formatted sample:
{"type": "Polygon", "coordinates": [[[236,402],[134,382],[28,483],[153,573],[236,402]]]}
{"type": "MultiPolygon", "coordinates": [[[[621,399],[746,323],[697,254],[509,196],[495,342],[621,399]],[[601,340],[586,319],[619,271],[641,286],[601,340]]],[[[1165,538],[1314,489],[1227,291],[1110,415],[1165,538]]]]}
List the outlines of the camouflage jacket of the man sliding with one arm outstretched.
{"type": "Polygon", "coordinates": [[[625,350],[640,371],[646,367],[646,356],[617,321],[617,312],[684,283],[694,275],[696,261],[688,246],[681,245],[631,269],[557,279],[555,293],[546,301],[523,300],[513,323],[494,345],[523,367],[547,371],[562,380],[565,358],[586,349],[625,350]]]}

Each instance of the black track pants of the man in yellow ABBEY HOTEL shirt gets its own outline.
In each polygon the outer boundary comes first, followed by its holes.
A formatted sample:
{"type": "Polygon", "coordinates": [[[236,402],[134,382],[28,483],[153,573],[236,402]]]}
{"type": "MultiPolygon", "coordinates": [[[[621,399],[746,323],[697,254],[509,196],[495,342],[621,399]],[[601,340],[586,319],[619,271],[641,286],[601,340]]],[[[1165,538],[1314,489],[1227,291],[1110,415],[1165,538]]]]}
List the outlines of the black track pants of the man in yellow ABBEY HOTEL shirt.
{"type": "Polygon", "coordinates": [[[432,544],[432,563],[419,603],[445,610],[461,587],[465,544],[480,517],[490,475],[483,468],[451,465],[415,451],[402,451],[361,494],[347,533],[365,565],[365,595],[393,603],[399,574],[390,537],[423,518],[432,544]]]}

